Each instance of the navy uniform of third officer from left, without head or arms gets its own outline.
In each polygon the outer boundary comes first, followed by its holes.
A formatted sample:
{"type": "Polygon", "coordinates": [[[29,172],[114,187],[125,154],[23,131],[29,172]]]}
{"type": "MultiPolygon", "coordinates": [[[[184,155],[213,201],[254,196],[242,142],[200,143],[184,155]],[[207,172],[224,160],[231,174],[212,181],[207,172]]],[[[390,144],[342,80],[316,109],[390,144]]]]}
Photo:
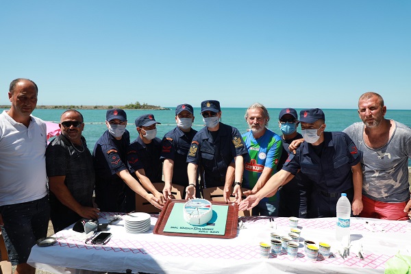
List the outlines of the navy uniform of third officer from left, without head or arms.
{"type": "Polygon", "coordinates": [[[171,182],[179,186],[188,186],[187,175],[187,154],[190,149],[192,138],[197,134],[197,130],[183,132],[179,127],[166,133],[161,141],[161,160],[173,160],[173,178],[171,182]]]}

